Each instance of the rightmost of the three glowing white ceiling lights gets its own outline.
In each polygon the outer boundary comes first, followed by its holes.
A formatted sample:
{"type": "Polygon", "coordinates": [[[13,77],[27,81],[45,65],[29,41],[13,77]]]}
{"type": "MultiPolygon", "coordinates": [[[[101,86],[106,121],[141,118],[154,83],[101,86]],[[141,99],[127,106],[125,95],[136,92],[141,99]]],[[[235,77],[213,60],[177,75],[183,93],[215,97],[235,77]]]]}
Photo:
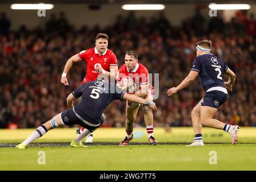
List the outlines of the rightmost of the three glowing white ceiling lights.
{"type": "Polygon", "coordinates": [[[251,9],[250,5],[247,4],[213,4],[209,5],[211,10],[249,10],[251,9]]]}

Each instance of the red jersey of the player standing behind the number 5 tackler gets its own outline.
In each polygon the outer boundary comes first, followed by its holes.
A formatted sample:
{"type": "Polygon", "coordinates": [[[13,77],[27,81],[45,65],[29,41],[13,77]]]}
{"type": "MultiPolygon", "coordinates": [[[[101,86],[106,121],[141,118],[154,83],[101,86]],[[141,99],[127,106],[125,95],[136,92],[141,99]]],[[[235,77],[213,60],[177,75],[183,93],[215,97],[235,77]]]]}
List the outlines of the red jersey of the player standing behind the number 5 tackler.
{"type": "Polygon", "coordinates": [[[110,66],[118,66],[117,57],[110,50],[106,49],[101,55],[98,53],[97,48],[91,48],[78,53],[78,58],[81,61],[86,61],[87,72],[85,78],[83,78],[83,83],[86,81],[94,81],[100,73],[97,73],[94,69],[94,65],[99,63],[105,71],[109,72],[110,66]]]}

